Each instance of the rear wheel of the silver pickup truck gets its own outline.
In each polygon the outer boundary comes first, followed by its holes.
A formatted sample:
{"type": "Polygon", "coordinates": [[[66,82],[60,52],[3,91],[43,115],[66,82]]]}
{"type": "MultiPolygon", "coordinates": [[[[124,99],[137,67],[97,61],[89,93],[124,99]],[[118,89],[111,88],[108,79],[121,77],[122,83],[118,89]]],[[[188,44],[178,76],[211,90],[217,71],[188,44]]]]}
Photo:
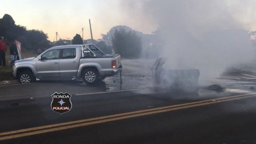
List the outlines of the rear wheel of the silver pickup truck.
{"type": "Polygon", "coordinates": [[[82,73],[82,78],[86,84],[97,84],[100,81],[98,71],[95,69],[87,69],[82,73]]]}

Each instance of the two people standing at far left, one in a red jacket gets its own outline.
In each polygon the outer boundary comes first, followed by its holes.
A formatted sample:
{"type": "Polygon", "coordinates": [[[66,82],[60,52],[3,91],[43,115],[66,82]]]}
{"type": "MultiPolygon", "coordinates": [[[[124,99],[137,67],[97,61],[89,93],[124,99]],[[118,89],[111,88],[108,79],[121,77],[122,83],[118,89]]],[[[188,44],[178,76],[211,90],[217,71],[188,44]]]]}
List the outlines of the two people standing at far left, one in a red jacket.
{"type": "MultiPolygon", "coordinates": [[[[7,51],[6,43],[4,42],[4,37],[0,37],[0,66],[6,66],[6,55],[5,52],[7,51]]],[[[16,46],[15,40],[12,42],[10,46],[10,66],[14,65],[14,62],[17,60],[18,57],[18,49],[16,46]]]]}

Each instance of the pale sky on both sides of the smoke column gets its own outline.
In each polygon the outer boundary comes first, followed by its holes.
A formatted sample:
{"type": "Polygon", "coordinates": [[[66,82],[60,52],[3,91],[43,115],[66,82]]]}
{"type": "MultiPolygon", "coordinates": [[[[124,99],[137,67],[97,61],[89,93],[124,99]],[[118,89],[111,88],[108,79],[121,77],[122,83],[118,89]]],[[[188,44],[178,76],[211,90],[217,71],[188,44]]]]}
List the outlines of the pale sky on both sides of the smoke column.
{"type": "MultiPolygon", "coordinates": [[[[171,3],[171,0],[160,1],[171,3]]],[[[219,12],[225,11],[225,15],[234,18],[240,28],[256,30],[255,0],[216,1],[219,4],[211,7],[212,15],[218,12],[214,10],[214,6],[222,7],[219,12]]],[[[196,2],[195,0],[194,3],[196,2]]],[[[1,1],[0,17],[9,14],[16,25],[25,26],[28,30],[42,30],[48,34],[50,41],[54,40],[56,32],[62,39],[72,39],[76,33],[82,36],[82,28],[84,39],[89,39],[90,19],[94,39],[101,39],[101,34],[106,34],[117,25],[126,25],[147,34],[155,31],[161,25],[161,19],[154,15],[154,10],[157,9],[151,8],[158,5],[148,3],[150,0],[5,0],[1,1]]],[[[202,4],[202,9],[203,6],[202,4]]],[[[163,9],[167,10],[168,7],[167,5],[163,9]]]]}

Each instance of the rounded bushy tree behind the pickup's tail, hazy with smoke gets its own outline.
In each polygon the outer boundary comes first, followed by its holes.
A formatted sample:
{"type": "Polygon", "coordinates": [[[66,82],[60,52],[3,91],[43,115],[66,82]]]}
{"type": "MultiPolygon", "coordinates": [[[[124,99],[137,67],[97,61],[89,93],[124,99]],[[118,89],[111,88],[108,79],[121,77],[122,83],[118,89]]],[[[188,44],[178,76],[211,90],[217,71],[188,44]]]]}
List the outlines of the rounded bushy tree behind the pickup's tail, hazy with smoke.
{"type": "Polygon", "coordinates": [[[142,52],[142,41],[139,36],[132,31],[121,28],[115,30],[112,36],[112,46],[115,53],[121,54],[123,58],[139,58],[142,52]]]}

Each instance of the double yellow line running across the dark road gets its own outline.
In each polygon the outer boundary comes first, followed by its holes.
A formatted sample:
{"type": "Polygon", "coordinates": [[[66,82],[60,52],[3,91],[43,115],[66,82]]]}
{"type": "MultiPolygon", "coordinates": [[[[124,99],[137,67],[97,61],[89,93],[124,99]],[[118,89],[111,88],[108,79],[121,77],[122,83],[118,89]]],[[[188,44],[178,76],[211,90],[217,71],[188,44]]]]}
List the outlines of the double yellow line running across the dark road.
{"type": "Polygon", "coordinates": [[[110,115],[110,116],[89,118],[89,119],[83,119],[83,120],[79,120],[79,121],[52,124],[52,125],[47,125],[47,126],[21,129],[21,130],[14,130],[14,131],[10,131],[10,132],[2,132],[2,133],[0,133],[0,135],[2,135],[2,136],[7,135],[7,136],[0,137],[0,140],[12,139],[12,138],[18,138],[18,137],[25,137],[25,136],[34,135],[34,134],[53,132],[53,131],[58,131],[58,130],[82,127],[82,126],[104,123],[104,122],[110,122],[110,121],[117,121],[117,120],[126,119],[126,118],[133,118],[133,117],[145,116],[145,115],[150,115],[150,114],[155,114],[155,113],[162,113],[162,112],[180,110],[180,109],[184,109],[184,108],[210,105],[210,104],[213,104],[213,103],[238,100],[238,99],[242,99],[242,98],[254,97],[254,96],[256,96],[255,94],[256,93],[230,96],[230,97],[223,97],[223,98],[216,98],[216,99],[212,99],[212,100],[204,100],[204,101],[198,101],[198,102],[183,103],[183,104],[173,105],[173,106],[166,106],[166,107],[152,108],[152,109],[148,109],[148,110],[141,110],[141,111],[134,111],[134,112],[128,112],[128,113],[114,114],[114,115],[110,115]],[[65,125],[68,125],[68,126],[65,126],[65,125]],[[57,126],[62,126],[62,127],[57,127],[57,126]],[[55,127],[55,128],[53,128],[53,127],[55,127]],[[44,129],[44,128],[48,128],[48,129],[44,129]],[[32,131],[32,130],[37,130],[37,131],[29,132],[29,131],[32,131]],[[26,132],[26,133],[21,133],[21,132],[26,132]],[[21,134],[17,134],[17,133],[21,133],[21,134]],[[14,134],[14,135],[8,135],[8,134],[14,134]]]}

